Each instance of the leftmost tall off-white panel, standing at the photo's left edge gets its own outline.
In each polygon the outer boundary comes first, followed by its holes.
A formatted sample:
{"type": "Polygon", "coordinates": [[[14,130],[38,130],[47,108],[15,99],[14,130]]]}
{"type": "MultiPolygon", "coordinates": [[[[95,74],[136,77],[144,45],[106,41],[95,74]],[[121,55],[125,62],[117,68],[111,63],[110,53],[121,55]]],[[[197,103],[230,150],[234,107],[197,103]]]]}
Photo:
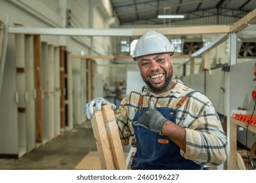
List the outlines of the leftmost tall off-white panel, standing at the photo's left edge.
{"type": "Polygon", "coordinates": [[[9,35],[0,96],[1,158],[19,158],[27,152],[24,44],[24,35],[9,35]]]}

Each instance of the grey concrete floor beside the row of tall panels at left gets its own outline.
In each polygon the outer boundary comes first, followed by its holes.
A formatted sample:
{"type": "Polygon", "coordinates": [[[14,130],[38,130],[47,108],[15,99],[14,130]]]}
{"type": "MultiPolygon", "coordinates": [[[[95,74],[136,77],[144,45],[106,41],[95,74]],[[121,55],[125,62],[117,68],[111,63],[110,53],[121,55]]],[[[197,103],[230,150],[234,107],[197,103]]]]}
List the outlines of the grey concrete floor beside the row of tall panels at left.
{"type": "Polygon", "coordinates": [[[73,170],[91,150],[96,150],[93,129],[82,124],[19,159],[0,159],[0,169],[73,170]]]}

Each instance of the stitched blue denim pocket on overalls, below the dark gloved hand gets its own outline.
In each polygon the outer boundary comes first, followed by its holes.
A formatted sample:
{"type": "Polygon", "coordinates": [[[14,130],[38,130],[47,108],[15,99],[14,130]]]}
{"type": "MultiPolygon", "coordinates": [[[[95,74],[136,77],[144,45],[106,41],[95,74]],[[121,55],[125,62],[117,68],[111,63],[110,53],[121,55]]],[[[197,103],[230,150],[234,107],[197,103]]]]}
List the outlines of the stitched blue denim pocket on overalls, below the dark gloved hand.
{"type": "Polygon", "coordinates": [[[148,158],[156,156],[156,133],[148,129],[138,129],[141,154],[148,158]]]}

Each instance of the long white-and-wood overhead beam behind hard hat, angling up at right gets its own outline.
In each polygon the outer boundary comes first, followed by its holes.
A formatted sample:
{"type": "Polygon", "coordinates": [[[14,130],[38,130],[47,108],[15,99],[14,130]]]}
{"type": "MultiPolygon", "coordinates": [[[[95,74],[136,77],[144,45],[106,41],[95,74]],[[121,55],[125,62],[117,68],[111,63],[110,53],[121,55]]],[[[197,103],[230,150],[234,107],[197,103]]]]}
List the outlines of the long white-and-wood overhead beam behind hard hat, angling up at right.
{"type": "Polygon", "coordinates": [[[209,25],[194,27],[149,27],[130,29],[81,29],[81,28],[32,28],[32,27],[9,27],[9,33],[23,33],[32,35],[66,35],[66,36],[99,36],[99,37],[133,37],[141,36],[144,32],[154,29],[163,35],[193,35],[209,33],[230,33],[237,32],[249,24],[256,22],[256,8],[249,12],[232,25],[209,25]]]}

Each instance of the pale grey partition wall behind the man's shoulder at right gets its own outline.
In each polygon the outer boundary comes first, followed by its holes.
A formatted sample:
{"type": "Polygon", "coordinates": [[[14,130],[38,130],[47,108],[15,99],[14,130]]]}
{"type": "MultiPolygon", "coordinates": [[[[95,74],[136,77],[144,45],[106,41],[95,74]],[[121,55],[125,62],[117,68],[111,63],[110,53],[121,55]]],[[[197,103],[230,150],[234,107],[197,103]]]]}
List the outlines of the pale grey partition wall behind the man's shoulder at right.
{"type": "MultiPolygon", "coordinates": [[[[221,68],[211,71],[211,75],[206,71],[198,75],[185,76],[182,81],[184,84],[195,90],[203,90],[205,83],[205,95],[213,103],[217,112],[227,116],[227,124],[231,117],[231,110],[237,110],[238,107],[245,108],[249,114],[253,112],[253,99],[251,92],[256,88],[256,82],[253,74],[256,59],[245,61],[230,66],[230,72],[221,71],[221,68]],[[221,88],[224,88],[224,93],[221,88]]],[[[227,133],[232,133],[227,131],[227,133]]],[[[245,145],[245,131],[238,131],[238,141],[245,145]]],[[[256,135],[248,132],[248,144],[251,148],[256,141],[256,135]]]]}

